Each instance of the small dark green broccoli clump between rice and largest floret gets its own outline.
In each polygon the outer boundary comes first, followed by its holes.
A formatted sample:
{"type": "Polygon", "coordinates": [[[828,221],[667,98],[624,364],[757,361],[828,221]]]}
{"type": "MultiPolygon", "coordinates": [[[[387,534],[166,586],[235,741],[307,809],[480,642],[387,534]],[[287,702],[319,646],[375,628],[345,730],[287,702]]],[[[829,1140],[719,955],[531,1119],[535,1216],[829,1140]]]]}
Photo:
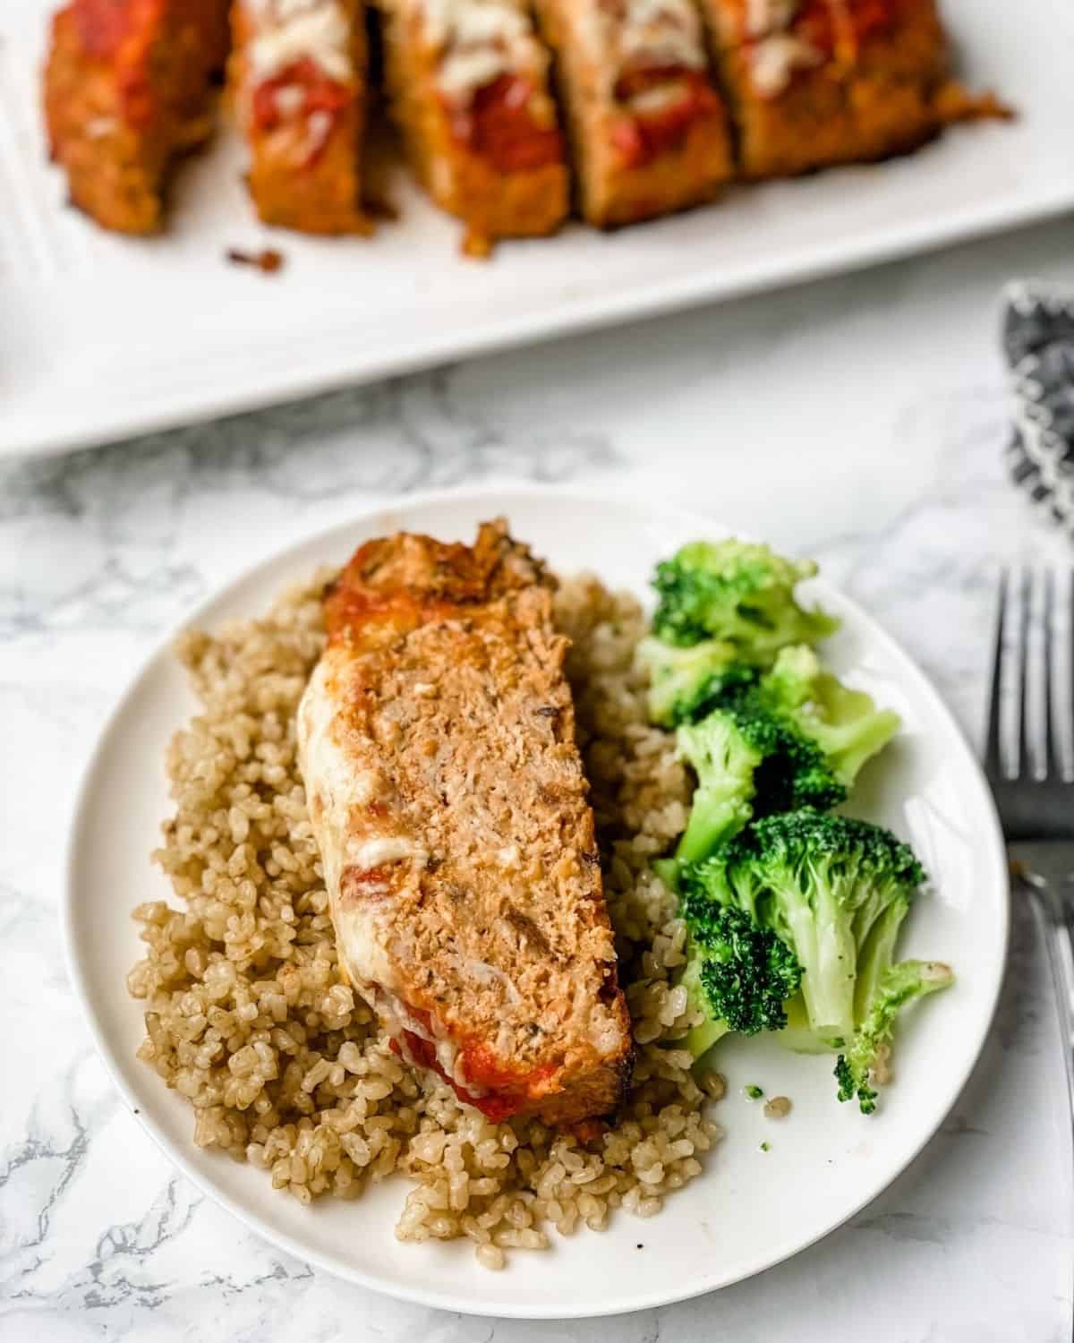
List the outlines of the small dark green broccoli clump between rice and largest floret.
{"type": "Polygon", "coordinates": [[[705,1021],[686,1037],[701,1058],[729,1030],[756,1035],[785,1025],[785,998],[797,991],[801,970],[793,952],[741,909],[716,905],[698,892],[683,897],[690,931],[683,984],[705,1021]]]}

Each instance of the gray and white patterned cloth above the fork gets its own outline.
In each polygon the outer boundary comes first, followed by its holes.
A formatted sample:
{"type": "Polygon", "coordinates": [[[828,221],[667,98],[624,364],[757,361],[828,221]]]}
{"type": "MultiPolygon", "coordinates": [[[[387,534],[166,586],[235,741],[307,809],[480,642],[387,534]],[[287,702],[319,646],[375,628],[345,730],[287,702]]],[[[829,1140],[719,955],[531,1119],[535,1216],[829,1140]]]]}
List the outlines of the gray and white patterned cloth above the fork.
{"type": "Polygon", "coordinates": [[[1015,399],[1011,473],[1074,533],[1074,293],[1012,285],[1003,346],[1015,399]]]}

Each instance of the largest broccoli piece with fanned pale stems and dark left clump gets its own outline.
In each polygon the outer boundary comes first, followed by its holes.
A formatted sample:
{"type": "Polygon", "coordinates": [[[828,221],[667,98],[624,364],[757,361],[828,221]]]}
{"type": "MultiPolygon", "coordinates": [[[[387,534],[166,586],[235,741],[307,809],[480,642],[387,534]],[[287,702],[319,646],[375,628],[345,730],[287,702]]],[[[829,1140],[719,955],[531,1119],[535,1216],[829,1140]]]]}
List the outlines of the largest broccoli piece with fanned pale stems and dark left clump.
{"type": "Polygon", "coordinates": [[[887,830],[812,808],[756,821],[703,862],[681,865],[679,909],[699,948],[683,982],[706,1011],[687,1048],[699,1057],[737,1029],[838,1049],[839,1099],[857,1096],[873,1113],[899,1010],[955,979],[937,962],[894,963],[924,880],[887,830]]]}

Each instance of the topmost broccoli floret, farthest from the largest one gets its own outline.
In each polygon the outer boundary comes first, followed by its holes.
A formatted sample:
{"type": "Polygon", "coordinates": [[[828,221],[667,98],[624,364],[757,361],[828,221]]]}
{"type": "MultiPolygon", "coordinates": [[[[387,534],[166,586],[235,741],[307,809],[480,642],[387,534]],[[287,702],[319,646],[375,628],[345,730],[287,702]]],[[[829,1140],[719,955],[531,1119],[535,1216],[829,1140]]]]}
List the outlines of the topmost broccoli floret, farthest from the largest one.
{"type": "Polygon", "coordinates": [[[811,561],[784,560],[767,545],[694,541],[656,567],[652,633],[681,647],[720,639],[741,661],[768,666],[785,645],[815,643],[839,627],[795,602],[795,586],[815,572],[811,561]]]}

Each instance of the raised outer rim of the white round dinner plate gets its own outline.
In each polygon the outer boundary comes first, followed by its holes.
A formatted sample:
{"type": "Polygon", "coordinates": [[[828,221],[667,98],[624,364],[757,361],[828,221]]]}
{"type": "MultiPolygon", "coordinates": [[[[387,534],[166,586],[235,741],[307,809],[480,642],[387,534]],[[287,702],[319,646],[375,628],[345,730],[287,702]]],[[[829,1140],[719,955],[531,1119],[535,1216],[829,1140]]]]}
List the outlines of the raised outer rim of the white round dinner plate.
{"type": "MultiPolygon", "coordinates": [[[[529,481],[497,481],[497,482],[481,482],[478,485],[462,485],[451,486],[447,489],[436,490],[420,490],[409,494],[401,494],[395,497],[384,497],[376,502],[371,502],[368,506],[358,509],[349,520],[344,522],[333,522],[329,526],[313,526],[305,532],[301,537],[290,541],[281,549],[273,551],[267,555],[262,555],[254,563],[244,565],[243,568],[230,573],[220,583],[215,584],[213,588],[185,612],[179,620],[172,622],[165,630],[162,637],[154,641],[153,646],[148,654],[140,661],[133,674],[125,681],[122,690],[117,696],[115,701],[110,706],[103,723],[98,729],[97,739],[94,741],[93,749],[86,759],[79,779],[78,787],[74,794],[74,802],[70,811],[70,822],[64,839],[64,853],[63,853],[63,890],[60,894],[60,931],[63,940],[63,956],[64,967],[67,971],[67,978],[71,983],[71,988],[75,995],[75,1002],[79,1009],[83,1025],[89,1029],[90,1037],[93,1039],[94,1048],[105,1065],[105,1070],[109,1074],[113,1085],[118,1091],[119,1096],[125,1101],[128,1109],[133,1113],[134,1119],[141,1125],[142,1131],[149,1135],[154,1146],[164,1154],[164,1156],[175,1166],[185,1179],[188,1179],[195,1189],[201,1194],[212,1199],[219,1207],[223,1207],[254,1236],[259,1237],[262,1241],[267,1241],[270,1245],[275,1245],[278,1249],[294,1256],[302,1262],[311,1264],[314,1268],[321,1269],[325,1273],[332,1275],[336,1279],[353,1283],[357,1287],[365,1288],[372,1292],[377,1292],[383,1296],[389,1296],[395,1300],[407,1301],[423,1307],[431,1307],[435,1309],[450,1311],[454,1313],[475,1315],[482,1317],[493,1319],[532,1319],[532,1320],[556,1320],[556,1319],[599,1319],[616,1315],[626,1315],[635,1311],[654,1309],[663,1305],[677,1304],[679,1301],[693,1300],[699,1296],[705,1296],[710,1292],[721,1291],[725,1287],[733,1287],[736,1283],[745,1281],[759,1273],[767,1272],[771,1268],[776,1268],[779,1264],[784,1264],[800,1254],[803,1250],[810,1249],[819,1241],[831,1236],[832,1232],[838,1230],[840,1226],[846,1225],[852,1217],[857,1217],[865,1207],[873,1203],[881,1197],[891,1185],[899,1179],[906,1170],[917,1160],[921,1152],[933,1140],[948,1115],[952,1112],[959,1101],[963,1091],[967,1086],[972,1073],[975,1072],[977,1062],[980,1061],[981,1053],[991,1034],[992,1025],[995,1022],[996,1010],[999,1006],[1000,991],[1003,987],[1004,974],[1010,958],[1010,937],[1011,937],[1011,890],[1010,880],[1007,876],[1007,862],[1006,862],[1006,845],[1003,839],[1003,831],[1000,827],[999,814],[992,798],[992,791],[988,787],[987,779],[981,770],[981,766],[961,728],[961,724],[955,717],[952,710],[948,708],[946,701],[942,698],[940,692],[932,684],[932,680],[926,673],[918,666],[916,658],[913,658],[885,627],[881,624],[875,616],[869,614],[854,598],[843,592],[842,588],[832,583],[828,583],[823,577],[812,580],[815,583],[818,595],[823,600],[824,591],[835,594],[844,608],[852,615],[852,619],[862,622],[867,629],[870,641],[875,641],[878,645],[883,646],[886,651],[895,653],[898,658],[905,662],[908,672],[908,681],[913,682],[920,693],[930,702],[933,712],[937,712],[941,719],[944,719],[948,727],[952,729],[952,735],[957,739],[959,749],[961,752],[961,766],[969,770],[969,772],[976,778],[979,784],[979,791],[981,800],[985,803],[985,814],[991,822],[987,835],[981,835],[981,847],[985,845],[991,850],[991,860],[988,866],[995,868],[996,877],[996,890],[1000,894],[999,900],[999,916],[1000,928],[999,939],[996,941],[997,959],[995,967],[992,967],[992,983],[987,998],[987,1010],[981,1013],[977,1026],[977,1038],[973,1042],[972,1050],[969,1050],[963,1057],[961,1068],[952,1073],[955,1084],[949,1088],[949,1099],[944,1104],[942,1109],[937,1112],[936,1123],[929,1127],[920,1142],[905,1155],[897,1170],[886,1174],[877,1189],[871,1189],[870,1193],[862,1195],[859,1199],[854,1201],[852,1206],[847,1206],[840,1210],[838,1215],[828,1219],[823,1226],[811,1234],[806,1240],[796,1241],[793,1246],[780,1246],[775,1257],[761,1256],[757,1261],[740,1265],[734,1273],[730,1276],[721,1277],[720,1273],[713,1273],[698,1281],[695,1287],[689,1291],[682,1291],[681,1288],[674,1288],[671,1291],[663,1292],[650,1292],[647,1295],[639,1296],[630,1300],[616,1300],[607,1307],[589,1308],[589,1307],[573,1307],[564,1311],[563,1308],[556,1308],[554,1305],[533,1305],[521,1304],[513,1305],[509,1301],[494,1301],[482,1303],[474,1301],[467,1296],[452,1296],[450,1292],[440,1291],[439,1288],[427,1289],[420,1283],[399,1285],[395,1283],[385,1284],[376,1273],[367,1272],[364,1269],[356,1268],[353,1265],[338,1262],[320,1250],[310,1249],[305,1242],[297,1240],[285,1230],[278,1230],[262,1222],[256,1213],[250,1211],[243,1206],[243,1203],[223,1190],[216,1182],[204,1178],[201,1172],[189,1160],[185,1148],[179,1144],[172,1143],[168,1135],[160,1128],[156,1121],[145,1111],[140,1108],[137,1093],[128,1086],[118,1058],[119,1052],[114,1049],[107,1039],[107,1035],[99,1023],[97,1014],[91,1006],[91,997],[89,992],[89,976],[82,966],[81,956],[77,948],[75,940],[75,889],[77,889],[77,860],[81,847],[82,829],[85,825],[86,803],[90,792],[90,786],[93,778],[98,770],[99,761],[105,753],[105,749],[115,732],[119,728],[121,719],[128,710],[130,701],[142,689],[145,682],[153,674],[158,659],[168,657],[176,637],[189,626],[197,623],[209,607],[219,603],[222,599],[234,591],[236,587],[254,579],[260,569],[270,565],[289,561],[298,552],[303,551],[306,547],[314,543],[330,541],[336,537],[345,537],[356,525],[367,522],[375,518],[377,514],[405,514],[407,512],[435,508],[442,505],[466,505],[473,501],[474,505],[482,501],[502,500],[506,501],[510,497],[528,498],[530,501],[546,501],[554,504],[556,501],[571,500],[576,504],[591,504],[591,505],[618,505],[627,506],[644,513],[646,516],[655,518],[662,517],[670,521],[675,521],[683,526],[701,526],[710,528],[713,530],[726,530],[722,526],[720,518],[709,517],[705,513],[694,512],[693,509],[683,509],[674,504],[666,504],[663,501],[650,502],[638,497],[636,493],[628,492],[626,489],[605,489],[599,490],[596,488],[583,488],[583,486],[558,486],[558,485],[544,485],[534,483],[529,481]]],[[[509,506],[505,505],[503,506],[509,506]]],[[[400,525],[405,525],[405,521],[400,517],[400,525]]],[[[733,535],[745,536],[744,532],[736,530],[733,535]]]]}

